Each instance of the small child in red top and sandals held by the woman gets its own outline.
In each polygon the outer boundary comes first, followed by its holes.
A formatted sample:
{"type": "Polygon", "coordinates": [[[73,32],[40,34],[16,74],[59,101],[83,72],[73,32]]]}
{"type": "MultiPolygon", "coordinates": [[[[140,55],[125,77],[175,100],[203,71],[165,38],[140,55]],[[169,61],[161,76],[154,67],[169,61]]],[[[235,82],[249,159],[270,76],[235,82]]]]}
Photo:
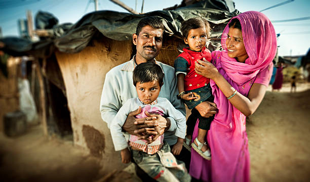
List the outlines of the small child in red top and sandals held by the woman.
{"type": "Polygon", "coordinates": [[[205,141],[205,136],[210,129],[213,117],[205,118],[195,109],[204,102],[213,102],[210,79],[195,72],[195,62],[197,60],[211,61],[211,52],[206,49],[207,38],[209,38],[210,25],[207,20],[200,17],[191,18],[181,25],[184,42],[189,48],[184,48],[174,61],[175,74],[178,79],[179,99],[185,102],[191,115],[187,119],[187,132],[184,147],[189,149],[192,139],[193,128],[197,118],[199,118],[199,132],[197,138],[191,143],[191,147],[203,158],[210,160],[211,153],[205,141]]]}

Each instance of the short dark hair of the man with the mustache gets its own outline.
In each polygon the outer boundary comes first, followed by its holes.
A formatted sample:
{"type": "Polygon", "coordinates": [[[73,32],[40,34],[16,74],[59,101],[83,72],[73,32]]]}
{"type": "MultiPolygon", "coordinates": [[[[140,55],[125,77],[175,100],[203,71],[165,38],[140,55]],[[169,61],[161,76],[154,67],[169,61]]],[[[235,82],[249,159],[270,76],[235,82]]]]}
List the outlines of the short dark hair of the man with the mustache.
{"type": "Polygon", "coordinates": [[[151,17],[144,17],[139,21],[136,29],[136,34],[139,35],[142,28],[145,27],[146,25],[149,25],[154,29],[162,29],[163,34],[165,32],[165,26],[163,22],[158,17],[151,16],[151,17]]]}

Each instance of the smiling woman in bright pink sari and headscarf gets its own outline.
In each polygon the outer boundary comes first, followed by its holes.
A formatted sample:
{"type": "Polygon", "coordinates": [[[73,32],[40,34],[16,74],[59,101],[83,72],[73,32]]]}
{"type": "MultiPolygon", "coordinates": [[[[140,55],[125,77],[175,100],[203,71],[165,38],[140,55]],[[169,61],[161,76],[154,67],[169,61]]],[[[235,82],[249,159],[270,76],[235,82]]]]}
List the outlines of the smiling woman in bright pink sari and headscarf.
{"type": "MultiPolygon", "coordinates": [[[[211,78],[218,112],[207,136],[211,161],[192,150],[190,174],[203,181],[249,181],[245,121],[261,103],[272,75],[276,33],[265,15],[245,12],[230,20],[221,43],[224,51],[212,52],[213,64],[195,65],[198,74],[211,78]]],[[[193,139],[197,133],[196,123],[193,139]]]]}

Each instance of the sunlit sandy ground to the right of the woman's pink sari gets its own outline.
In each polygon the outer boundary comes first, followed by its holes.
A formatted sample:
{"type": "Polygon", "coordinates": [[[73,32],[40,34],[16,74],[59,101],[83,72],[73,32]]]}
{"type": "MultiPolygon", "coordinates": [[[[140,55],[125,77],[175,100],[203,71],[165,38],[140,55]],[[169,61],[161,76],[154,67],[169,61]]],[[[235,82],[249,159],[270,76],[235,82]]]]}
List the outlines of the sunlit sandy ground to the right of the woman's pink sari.
{"type": "Polygon", "coordinates": [[[267,92],[247,124],[252,181],[310,179],[310,87],[297,86],[267,92]]]}

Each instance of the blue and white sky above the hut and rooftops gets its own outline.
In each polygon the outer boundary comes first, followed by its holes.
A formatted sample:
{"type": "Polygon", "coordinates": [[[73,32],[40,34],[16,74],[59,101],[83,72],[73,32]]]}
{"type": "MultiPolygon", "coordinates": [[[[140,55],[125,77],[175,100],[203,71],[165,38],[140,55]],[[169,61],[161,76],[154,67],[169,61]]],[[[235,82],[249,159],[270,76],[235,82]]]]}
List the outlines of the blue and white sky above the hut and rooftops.
{"type": "MultiPolygon", "coordinates": [[[[141,12],[142,0],[121,0],[137,12],[141,12]]],[[[234,0],[235,8],[240,12],[261,11],[268,7],[288,2],[287,0],[234,0]]],[[[98,10],[128,12],[109,0],[98,0],[98,10]]],[[[162,10],[180,4],[181,0],[145,0],[143,13],[162,10]]],[[[271,21],[308,17],[307,20],[273,22],[278,37],[280,56],[304,55],[310,48],[310,1],[295,0],[288,4],[262,11],[271,21]]],[[[19,36],[18,19],[26,19],[26,11],[32,11],[34,19],[38,11],[52,13],[59,23],[75,23],[85,14],[93,12],[93,0],[0,0],[0,27],[3,36],[19,36]]],[[[34,22],[34,21],[33,21],[34,22]]]]}

